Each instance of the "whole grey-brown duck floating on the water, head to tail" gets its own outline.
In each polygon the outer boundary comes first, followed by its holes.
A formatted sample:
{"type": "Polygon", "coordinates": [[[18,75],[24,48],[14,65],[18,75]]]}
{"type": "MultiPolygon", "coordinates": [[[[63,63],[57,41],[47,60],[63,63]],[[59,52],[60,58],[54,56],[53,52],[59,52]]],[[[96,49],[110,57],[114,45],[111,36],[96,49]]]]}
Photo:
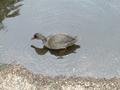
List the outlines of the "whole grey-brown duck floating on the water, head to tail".
{"type": "Polygon", "coordinates": [[[44,46],[49,49],[65,49],[69,46],[72,46],[76,43],[76,37],[71,37],[66,34],[55,34],[45,38],[39,33],[34,35],[34,38],[41,39],[44,43],[44,46]]]}

